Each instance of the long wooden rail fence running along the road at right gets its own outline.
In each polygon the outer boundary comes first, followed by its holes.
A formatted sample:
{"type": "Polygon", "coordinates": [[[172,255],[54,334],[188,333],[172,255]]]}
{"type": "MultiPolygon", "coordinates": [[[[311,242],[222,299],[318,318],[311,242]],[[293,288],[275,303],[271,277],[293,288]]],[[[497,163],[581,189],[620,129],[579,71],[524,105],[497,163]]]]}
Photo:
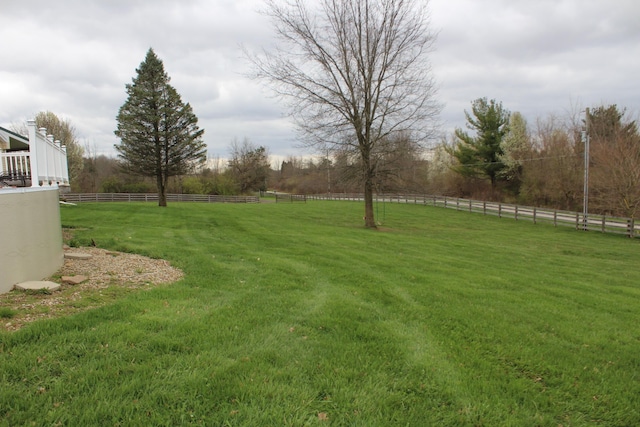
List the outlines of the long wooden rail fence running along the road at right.
{"type": "MultiPolygon", "coordinates": [[[[315,194],[308,195],[310,200],[353,200],[362,201],[362,194],[315,194]]],[[[601,233],[622,234],[628,237],[640,235],[640,221],[634,218],[621,218],[557,209],[536,208],[512,205],[508,203],[485,202],[456,197],[433,196],[423,194],[380,194],[374,196],[376,202],[409,203],[455,209],[471,213],[494,215],[500,218],[513,218],[536,223],[550,223],[555,227],[567,226],[576,230],[599,231],[601,233]]]]}

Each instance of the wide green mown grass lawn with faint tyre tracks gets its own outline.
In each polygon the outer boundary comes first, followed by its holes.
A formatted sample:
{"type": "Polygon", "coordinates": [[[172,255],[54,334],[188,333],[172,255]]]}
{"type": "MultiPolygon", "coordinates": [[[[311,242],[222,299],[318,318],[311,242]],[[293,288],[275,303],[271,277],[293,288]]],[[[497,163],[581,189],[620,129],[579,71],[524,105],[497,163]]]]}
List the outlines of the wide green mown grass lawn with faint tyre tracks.
{"type": "Polygon", "coordinates": [[[640,241],[414,205],[62,206],[180,282],[0,335],[0,425],[640,425],[640,241]]]}

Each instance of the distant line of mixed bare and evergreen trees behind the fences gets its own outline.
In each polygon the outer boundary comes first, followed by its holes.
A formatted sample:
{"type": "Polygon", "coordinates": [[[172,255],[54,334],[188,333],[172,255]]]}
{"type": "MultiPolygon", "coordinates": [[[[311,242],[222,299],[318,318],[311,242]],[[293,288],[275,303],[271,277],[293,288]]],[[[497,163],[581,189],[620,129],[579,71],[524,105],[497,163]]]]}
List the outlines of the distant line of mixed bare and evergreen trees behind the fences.
{"type": "MultiPolygon", "coordinates": [[[[471,103],[467,129],[456,129],[425,151],[410,135],[385,140],[373,153],[376,193],[420,193],[499,200],[579,211],[584,188],[585,138],[589,138],[589,210],[637,217],[640,213],[640,132],[617,105],[574,114],[547,115],[529,124],[495,100],[471,103]]],[[[75,192],[149,193],[150,176],[129,173],[122,160],[80,148],[75,129],[51,112],[38,115],[53,129],[64,126],[72,148],[75,192]]],[[[185,194],[251,194],[260,190],[317,194],[361,192],[361,159],[349,150],[324,156],[290,156],[272,164],[268,147],[233,140],[229,157],[210,159],[167,180],[166,191],[185,194]]]]}

